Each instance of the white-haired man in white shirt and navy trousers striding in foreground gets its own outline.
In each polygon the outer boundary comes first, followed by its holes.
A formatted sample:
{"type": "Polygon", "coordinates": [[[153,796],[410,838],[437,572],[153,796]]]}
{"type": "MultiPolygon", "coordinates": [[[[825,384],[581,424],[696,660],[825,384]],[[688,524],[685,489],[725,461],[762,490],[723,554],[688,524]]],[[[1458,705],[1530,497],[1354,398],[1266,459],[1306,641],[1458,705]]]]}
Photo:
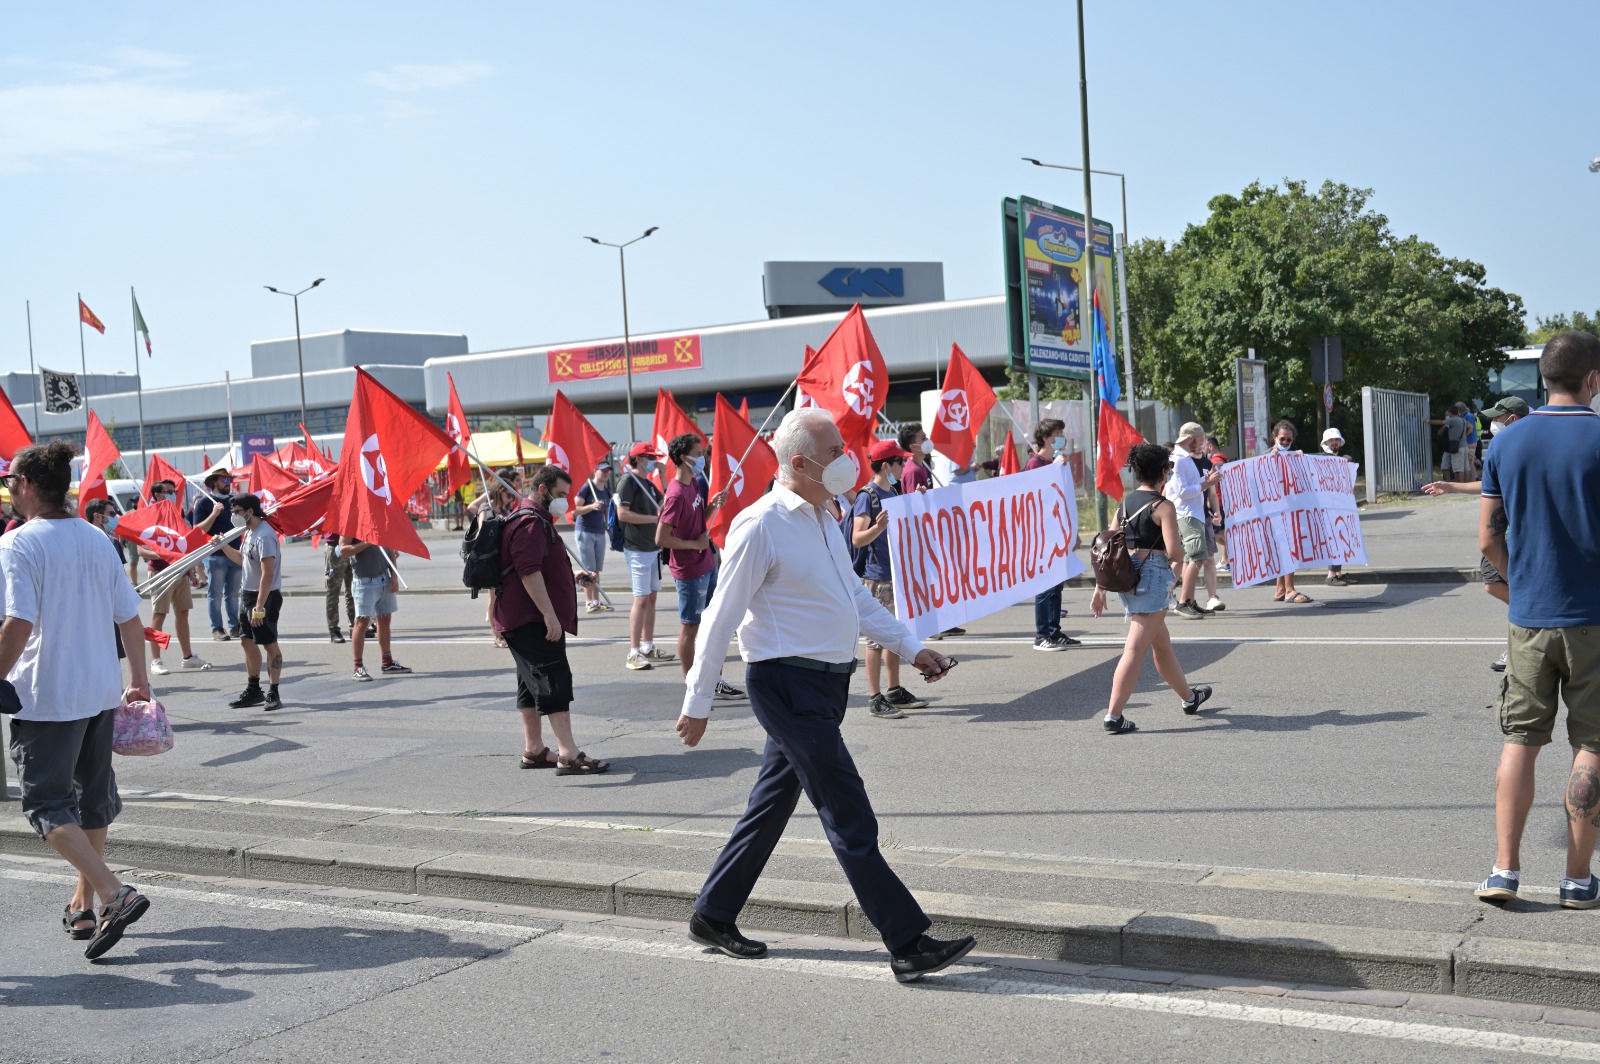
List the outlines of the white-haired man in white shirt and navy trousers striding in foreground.
{"type": "Polygon", "coordinates": [[[955,662],[917,642],[856,578],[838,523],[824,509],[856,480],[827,411],[790,413],[773,450],[778,485],[728,533],[677,725],[688,746],[706,734],[722,659],[738,629],[766,754],[749,806],[694,902],[690,938],[728,957],[766,955],[766,944],[742,936],[734,922],[805,790],[862,912],[893,955],[894,978],[914,982],[965,957],[976,939],[926,934],[931,923],[922,906],[878,851],[878,822],[838,725],[862,632],[915,664],[930,683],[955,662]]]}

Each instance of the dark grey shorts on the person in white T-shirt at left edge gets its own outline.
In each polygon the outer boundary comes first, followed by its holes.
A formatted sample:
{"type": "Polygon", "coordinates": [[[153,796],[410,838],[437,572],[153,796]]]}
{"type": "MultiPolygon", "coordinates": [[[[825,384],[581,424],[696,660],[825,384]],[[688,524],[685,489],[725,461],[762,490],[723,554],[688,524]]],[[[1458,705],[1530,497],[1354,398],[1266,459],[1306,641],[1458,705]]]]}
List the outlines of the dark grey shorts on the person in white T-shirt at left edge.
{"type": "Polygon", "coordinates": [[[22,816],[38,837],[64,824],[110,827],[122,813],[110,768],[112,715],[82,720],[11,718],[11,760],[22,787],[22,816]]]}

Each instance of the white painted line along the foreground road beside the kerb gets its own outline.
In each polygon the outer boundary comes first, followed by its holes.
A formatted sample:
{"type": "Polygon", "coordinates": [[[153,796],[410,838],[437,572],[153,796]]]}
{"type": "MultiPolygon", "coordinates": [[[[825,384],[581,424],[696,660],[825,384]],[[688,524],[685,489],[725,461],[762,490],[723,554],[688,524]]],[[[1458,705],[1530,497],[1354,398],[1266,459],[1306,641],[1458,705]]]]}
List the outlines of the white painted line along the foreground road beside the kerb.
{"type": "MultiPolygon", "coordinates": [[[[59,883],[74,882],[70,875],[51,872],[30,872],[26,869],[0,869],[0,878],[59,883]]],[[[800,976],[827,979],[861,979],[883,982],[890,976],[883,970],[882,958],[870,962],[842,962],[819,957],[766,957],[762,962],[731,962],[717,954],[706,952],[701,946],[685,941],[650,941],[638,938],[616,938],[595,934],[590,931],[549,931],[536,926],[515,923],[493,923],[488,920],[453,920],[419,912],[389,912],[382,909],[358,909],[346,906],[328,906],[310,901],[293,901],[280,898],[259,898],[229,894],[226,891],[198,891],[182,886],[152,885],[141,886],[150,898],[182,899],[205,906],[232,906],[238,909],[256,909],[262,912],[291,912],[307,917],[325,917],[341,925],[350,922],[381,923],[389,926],[406,926],[430,931],[446,931],[454,934],[493,934],[522,942],[538,941],[541,944],[568,946],[573,949],[626,954],[630,957],[653,957],[667,962],[694,963],[733,963],[746,965],[750,974],[782,971],[800,976]]],[[[1003,963],[1003,962],[1002,962],[1003,963]]],[[[746,968],[741,968],[744,971],[746,968]]],[[[1064,976],[1059,982],[1043,982],[1027,979],[1014,970],[997,966],[958,965],[938,976],[952,989],[968,994],[992,994],[997,997],[1029,998],[1035,1002],[1051,1002],[1059,1005],[1077,1005],[1090,1008],[1122,1008],[1139,1013],[1163,1013],[1168,1016],[1186,1016],[1189,1019],[1214,1019],[1261,1024],[1269,1027],[1293,1027],[1301,1030],[1322,1030],[1338,1035],[1362,1035],[1370,1038],[1389,1038],[1394,1042],[1419,1042],[1427,1045],[1443,1045],[1459,1050],[1482,1050],[1490,1053],[1525,1053],[1531,1056],[1555,1056],[1570,1061],[1600,1061],[1600,1045],[1594,1042],[1573,1042],[1568,1038],[1549,1038],[1539,1035],[1518,1035],[1499,1030],[1478,1030],[1470,1027],[1448,1027],[1443,1024],[1418,1024],[1395,1019],[1374,1019],[1366,1016],[1350,1016],[1333,1011],[1309,1011],[1301,1008],[1238,1005],[1235,1002],[1216,1002],[1192,997],[1184,990],[1101,990],[1091,986],[1075,986],[1072,976],[1064,976]]]]}

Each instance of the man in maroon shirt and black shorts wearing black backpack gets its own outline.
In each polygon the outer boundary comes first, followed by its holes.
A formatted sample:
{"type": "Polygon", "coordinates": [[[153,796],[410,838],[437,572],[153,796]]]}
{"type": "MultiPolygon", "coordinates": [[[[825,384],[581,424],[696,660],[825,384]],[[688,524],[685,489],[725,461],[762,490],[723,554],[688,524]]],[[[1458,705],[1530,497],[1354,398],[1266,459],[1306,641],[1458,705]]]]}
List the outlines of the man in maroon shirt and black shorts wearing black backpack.
{"type": "Polygon", "coordinates": [[[573,573],[554,518],[566,512],[573,478],[563,469],[542,466],[533,475],[531,494],[506,518],[501,531],[501,563],[509,566],[490,616],[506,637],[517,662],[517,709],[522,712],[523,768],[554,768],[557,776],[592,776],[611,768],[578,749],[573,741],[573,669],[566,662],[566,635],[578,635],[578,587],[594,573],[573,573]],[[555,733],[555,755],[544,746],[541,717],[555,733]]]}

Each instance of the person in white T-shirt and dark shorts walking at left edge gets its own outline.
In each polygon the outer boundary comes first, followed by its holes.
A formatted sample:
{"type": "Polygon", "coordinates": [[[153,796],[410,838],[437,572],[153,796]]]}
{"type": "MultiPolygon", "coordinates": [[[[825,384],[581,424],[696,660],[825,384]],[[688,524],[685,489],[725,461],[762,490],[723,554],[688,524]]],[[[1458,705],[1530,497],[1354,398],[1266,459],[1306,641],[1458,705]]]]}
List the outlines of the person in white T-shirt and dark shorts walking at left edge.
{"type": "Polygon", "coordinates": [[[77,446],[24,448],[3,477],[21,528],[0,536],[0,709],[11,718],[11,758],[22,814],[78,872],[62,915],[96,958],[150,902],[125,886],[101,856],[106,829],[122,811],[110,765],[112,720],[122,702],[149,701],[144,622],[106,534],[67,510],[77,446]],[[122,685],[117,630],[131,683],[122,685]],[[94,898],[104,902],[94,918],[94,898]]]}

